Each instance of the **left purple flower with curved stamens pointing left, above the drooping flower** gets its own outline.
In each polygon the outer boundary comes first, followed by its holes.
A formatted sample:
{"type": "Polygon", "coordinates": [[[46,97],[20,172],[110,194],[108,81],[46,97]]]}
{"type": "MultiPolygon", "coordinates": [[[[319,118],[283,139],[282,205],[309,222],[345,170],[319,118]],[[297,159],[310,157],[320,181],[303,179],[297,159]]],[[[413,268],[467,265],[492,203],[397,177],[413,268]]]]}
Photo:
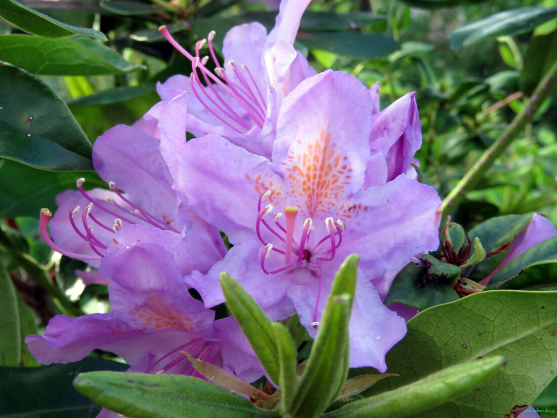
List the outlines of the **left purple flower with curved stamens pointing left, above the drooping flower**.
{"type": "MultiPolygon", "coordinates": [[[[160,123],[168,125],[165,118],[173,115],[166,111],[167,106],[170,104],[160,109],[158,117],[160,123]]],[[[151,132],[158,134],[158,129],[151,132]]],[[[143,130],[118,125],[97,138],[93,164],[109,190],[85,191],[84,179],[79,179],[77,191],[58,195],[58,210],[49,225],[52,240],[47,233],[50,212],[41,213],[41,233],[47,244],[63,255],[98,267],[116,232],[128,225],[144,225],[175,235],[182,249],[179,266],[183,274],[211,268],[226,254],[226,247],[218,230],[190,213],[177,198],[163,158],[163,154],[173,155],[185,145],[185,130],[182,135],[184,138],[174,135],[174,143],[160,142],[143,130]]],[[[169,162],[173,162],[170,157],[169,162]]],[[[99,278],[95,282],[100,283],[99,278]]]]}

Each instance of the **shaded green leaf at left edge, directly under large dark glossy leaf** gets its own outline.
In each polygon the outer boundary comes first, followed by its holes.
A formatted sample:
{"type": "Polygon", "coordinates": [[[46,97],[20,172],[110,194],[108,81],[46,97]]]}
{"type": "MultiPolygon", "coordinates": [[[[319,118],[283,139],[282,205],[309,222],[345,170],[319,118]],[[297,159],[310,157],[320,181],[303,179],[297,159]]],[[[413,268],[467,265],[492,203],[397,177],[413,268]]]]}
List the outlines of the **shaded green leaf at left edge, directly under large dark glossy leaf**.
{"type": "Polygon", "coordinates": [[[0,217],[37,217],[42,207],[54,212],[56,195],[75,189],[80,177],[87,179],[86,188],[106,187],[95,172],[48,172],[14,161],[0,162],[0,217]]]}

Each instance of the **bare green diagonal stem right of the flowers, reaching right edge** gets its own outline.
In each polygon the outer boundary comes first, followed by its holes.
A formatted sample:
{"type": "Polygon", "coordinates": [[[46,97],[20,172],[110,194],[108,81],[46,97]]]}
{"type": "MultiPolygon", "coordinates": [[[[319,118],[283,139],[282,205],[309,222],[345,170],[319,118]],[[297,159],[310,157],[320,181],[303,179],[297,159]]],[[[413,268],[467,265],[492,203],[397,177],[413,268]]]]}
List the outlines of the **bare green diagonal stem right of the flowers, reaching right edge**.
{"type": "Polygon", "coordinates": [[[531,121],[540,105],[549,95],[549,91],[554,87],[555,76],[557,76],[557,62],[549,69],[543,80],[531,95],[530,102],[519,114],[515,116],[511,124],[501,134],[497,140],[485,150],[480,159],[468,170],[460,182],[444,198],[441,205],[443,215],[450,215],[459,205],[466,192],[470,191],[483,178],[485,172],[495,162],[497,157],[509,146],[513,139],[524,129],[527,122],[531,121]]]}

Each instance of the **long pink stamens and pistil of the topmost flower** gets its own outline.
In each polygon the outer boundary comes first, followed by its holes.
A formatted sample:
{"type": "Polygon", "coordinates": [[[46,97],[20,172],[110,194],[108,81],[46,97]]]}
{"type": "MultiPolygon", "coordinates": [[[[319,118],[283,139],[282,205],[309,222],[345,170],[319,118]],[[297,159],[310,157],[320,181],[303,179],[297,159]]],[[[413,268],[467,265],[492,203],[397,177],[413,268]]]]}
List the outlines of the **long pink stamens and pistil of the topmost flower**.
{"type": "Polygon", "coordinates": [[[170,35],[166,26],[161,26],[159,32],[180,54],[192,62],[192,74],[189,76],[190,85],[199,103],[209,113],[239,134],[248,132],[253,125],[257,125],[259,128],[263,127],[263,121],[266,118],[266,100],[263,98],[247,66],[241,65],[241,71],[233,60],[228,61],[228,65],[236,77],[235,80],[232,80],[226,70],[221,67],[213,48],[214,31],[209,32],[206,40],[203,39],[196,43],[196,56],[186,51],[170,35]],[[199,51],[205,44],[207,44],[209,54],[216,66],[214,72],[208,70],[205,66],[207,61],[209,61],[209,56],[204,56],[203,58],[199,56],[199,51]],[[202,79],[205,84],[203,84],[202,79]],[[224,97],[223,93],[226,93],[227,97],[224,97]],[[230,99],[234,100],[243,110],[239,108],[236,110],[232,109],[229,105],[230,99]]]}

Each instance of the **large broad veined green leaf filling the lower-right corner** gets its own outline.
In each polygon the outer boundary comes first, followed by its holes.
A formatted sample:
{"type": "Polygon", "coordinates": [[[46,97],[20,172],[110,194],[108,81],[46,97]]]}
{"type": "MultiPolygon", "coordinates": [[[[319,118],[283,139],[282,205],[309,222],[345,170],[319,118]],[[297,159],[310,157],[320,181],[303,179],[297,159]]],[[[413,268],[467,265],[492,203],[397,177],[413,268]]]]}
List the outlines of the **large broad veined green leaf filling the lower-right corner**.
{"type": "Polygon", "coordinates": [[[531,405],[557,370],[555,291],[483,291],[424,310],[407,328],[386,359],[400,377],[378,382],[374,394],[478,357],[509,362],[472,393],[414,418],[501,418],[516,405],[531,405]]]}

